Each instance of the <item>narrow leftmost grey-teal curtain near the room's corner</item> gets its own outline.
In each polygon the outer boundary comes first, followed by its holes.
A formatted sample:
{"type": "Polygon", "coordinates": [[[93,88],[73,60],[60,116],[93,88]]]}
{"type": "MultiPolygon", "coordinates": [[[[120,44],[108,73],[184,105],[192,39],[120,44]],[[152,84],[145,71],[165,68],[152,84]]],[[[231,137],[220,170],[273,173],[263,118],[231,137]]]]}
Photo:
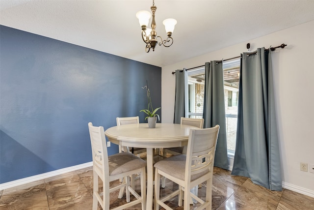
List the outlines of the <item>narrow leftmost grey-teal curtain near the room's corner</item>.
{"type": "Polygon", "coordinates": [[[176,93],[175,93],[175,116],[174,123],[180,124],[181,117],[186,115],[187,111],[187,73],[186,70],[176,70],[176,93]]]}

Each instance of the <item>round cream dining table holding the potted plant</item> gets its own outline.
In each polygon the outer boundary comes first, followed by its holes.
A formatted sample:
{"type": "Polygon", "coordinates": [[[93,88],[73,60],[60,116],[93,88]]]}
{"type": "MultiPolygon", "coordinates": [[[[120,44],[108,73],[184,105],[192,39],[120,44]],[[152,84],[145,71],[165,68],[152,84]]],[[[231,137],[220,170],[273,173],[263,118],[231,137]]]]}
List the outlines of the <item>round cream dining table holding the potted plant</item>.
{"type": "Polygon", "coordinates": [[[114,126],[105,130],[105,136],[113,144],[147,149],[147,210],[153,209],[154,149],[186,146],[190,128],[195,127],[157,123],[156,128],[149,128],[148,123],[139,123],[114,126]]]}

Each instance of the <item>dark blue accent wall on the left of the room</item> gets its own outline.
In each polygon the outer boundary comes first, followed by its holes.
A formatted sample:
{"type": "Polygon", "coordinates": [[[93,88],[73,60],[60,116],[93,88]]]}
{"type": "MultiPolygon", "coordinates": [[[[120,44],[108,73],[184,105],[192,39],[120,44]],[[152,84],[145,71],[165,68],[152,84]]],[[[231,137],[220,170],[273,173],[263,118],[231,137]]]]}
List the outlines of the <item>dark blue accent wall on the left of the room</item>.
{"type": "Polygon", "coordinates": [[[87,123],[144,122],[146,80],[160,107],[160,67],[0,26],[0,183],[92,161],[87,123]]]}

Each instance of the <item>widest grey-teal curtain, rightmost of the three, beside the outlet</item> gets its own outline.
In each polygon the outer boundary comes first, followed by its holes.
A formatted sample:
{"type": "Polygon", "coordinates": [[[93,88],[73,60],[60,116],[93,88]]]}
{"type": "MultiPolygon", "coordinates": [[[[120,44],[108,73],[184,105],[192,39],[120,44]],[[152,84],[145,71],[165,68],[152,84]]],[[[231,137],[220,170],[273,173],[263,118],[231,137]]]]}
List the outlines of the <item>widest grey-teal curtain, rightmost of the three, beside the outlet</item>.
{"type": "Polygon", "coordinates": [[[243,53],[233,175],[282,190],[271,53],[243,53]]]}

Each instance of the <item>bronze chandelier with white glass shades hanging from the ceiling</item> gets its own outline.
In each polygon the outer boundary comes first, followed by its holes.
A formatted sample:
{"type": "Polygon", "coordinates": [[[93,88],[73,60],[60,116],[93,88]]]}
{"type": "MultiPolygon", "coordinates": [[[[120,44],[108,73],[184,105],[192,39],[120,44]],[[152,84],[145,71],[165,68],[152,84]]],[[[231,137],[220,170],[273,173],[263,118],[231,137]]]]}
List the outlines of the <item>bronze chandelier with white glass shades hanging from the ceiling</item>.
{"type": "Polygon", "coordinates": [[[136,13],[136,17],[138,18],[139,24],[142,27],[142,38],[143,41],[146,43],[145,52],[148,53],[151,48],[153,48],[153,51],[155,51],[156,45],[163,45],[165,47],[170,47],[173,43],[173,39],[171,37],[171,34],[173,30],[175,29],[175,25],[177,24],[177,21],[175,19],[169,18],[162,22],[162,24],[165,26],[166,32],[167,32],[167,39],[162,40],[160,36],[157,36],[156,32],[156,22],[155,22],[155,12],[156,12],[157,6],[155,6],[155,2],[153,0],[153,6],[151,6],[152,14],[148,11],[141,10],[136,13]],[[152,19],[152,29],[147,28],[149,19],[153,16],[152,19]],[[157,41],[159,40],[159,42],[157,41]]]}

